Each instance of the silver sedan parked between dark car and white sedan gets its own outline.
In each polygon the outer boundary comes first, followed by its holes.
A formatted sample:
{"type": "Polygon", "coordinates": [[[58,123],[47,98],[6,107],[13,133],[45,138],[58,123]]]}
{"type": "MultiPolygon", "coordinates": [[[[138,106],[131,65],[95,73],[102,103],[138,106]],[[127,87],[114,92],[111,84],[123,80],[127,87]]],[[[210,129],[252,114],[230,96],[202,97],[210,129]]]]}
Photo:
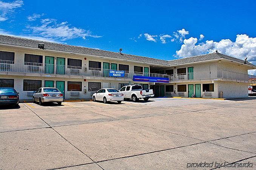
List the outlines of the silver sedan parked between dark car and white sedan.
{"type": "Polygon", "coordinates": [[[58,105],[61,105],[63,94],[57,88],[42,87],[34,91],[33,102],[39,102],[39,105],[42,105],[44,102],[57,102],[58,105]]]}

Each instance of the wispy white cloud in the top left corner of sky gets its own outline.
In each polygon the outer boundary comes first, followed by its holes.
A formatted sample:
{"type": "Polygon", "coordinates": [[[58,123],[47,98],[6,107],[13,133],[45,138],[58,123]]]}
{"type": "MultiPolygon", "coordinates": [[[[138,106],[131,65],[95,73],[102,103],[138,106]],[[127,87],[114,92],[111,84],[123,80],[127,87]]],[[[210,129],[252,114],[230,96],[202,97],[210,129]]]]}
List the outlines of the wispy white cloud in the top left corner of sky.
{"type": "Polygon", "coordinates": [[[14,9],[20,8],[22,5],[22,0],[15,0],[13,2],[3,2],[0,0],[0,21],[8,20],[8,17],[14,12],[14,9]]]}

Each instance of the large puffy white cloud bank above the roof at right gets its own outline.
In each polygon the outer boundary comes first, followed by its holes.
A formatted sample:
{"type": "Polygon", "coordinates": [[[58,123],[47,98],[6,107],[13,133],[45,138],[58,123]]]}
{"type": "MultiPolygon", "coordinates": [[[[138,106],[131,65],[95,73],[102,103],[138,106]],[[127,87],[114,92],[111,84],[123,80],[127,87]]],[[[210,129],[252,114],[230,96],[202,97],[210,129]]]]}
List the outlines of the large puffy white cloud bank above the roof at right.
{"type": "Polygon", "coordinates": [[[204,43],[197,43],[197,38],[190,37],[184,39],[180,50],[176,51],[176,56],[184,58],[188,56],[201,55],[205,53],[212,53],[215,50],[218,52],[233,56],[256,64],[256,37],[249,37],[246,34],[236,35],[236,41],[230,39],[222,39],[219,42],[210,40],[204,43]]]}

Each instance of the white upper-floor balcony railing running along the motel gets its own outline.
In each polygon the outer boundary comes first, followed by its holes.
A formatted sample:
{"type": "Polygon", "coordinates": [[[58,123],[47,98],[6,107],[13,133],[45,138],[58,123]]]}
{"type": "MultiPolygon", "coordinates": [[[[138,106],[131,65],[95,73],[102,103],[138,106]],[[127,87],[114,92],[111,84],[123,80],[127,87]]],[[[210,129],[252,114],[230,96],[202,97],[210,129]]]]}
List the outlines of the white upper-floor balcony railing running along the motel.
{"type": "MultiPolygon", "coordinates": [[[[69,65],[54,65],[54,64],[42,64],[35,62],[18,63],[14,61],[0,60],[0,72],[13,73],[29,73],[29,74],[46,74],[46,75],[66,75],[66,76],[89,76],[89,77],[111,77],[109,76],[109,69],[101,68],[87,68],[69,65]]],[[[157,74],[157,73],[142,73],[125,71],[125,77],[114,77],[133,79],[133,76],[150,76],[150,77],[165,77],[169,78],[170,82],[190,82],[200,80],[228,80],[235,82],[255,83],[256,76],[236,73],[226,70],[214,70],[214,71],[201,71],[194,73],[182,73],[182,74],[157,74]]]]}

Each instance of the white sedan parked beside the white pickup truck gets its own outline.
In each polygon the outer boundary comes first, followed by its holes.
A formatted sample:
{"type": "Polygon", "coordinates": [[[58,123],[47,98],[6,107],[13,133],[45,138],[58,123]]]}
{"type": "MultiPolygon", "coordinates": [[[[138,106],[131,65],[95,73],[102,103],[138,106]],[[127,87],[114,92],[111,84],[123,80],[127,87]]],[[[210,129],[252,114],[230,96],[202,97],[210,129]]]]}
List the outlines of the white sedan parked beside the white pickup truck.
{"type": "Polygon", "coordinates": [[[107,103],[110,101],[117,101],[121,103],[123,101],[123,93],[114,88],[102,88],[93,94],[93,101],[103,101],[107,103]]]}

